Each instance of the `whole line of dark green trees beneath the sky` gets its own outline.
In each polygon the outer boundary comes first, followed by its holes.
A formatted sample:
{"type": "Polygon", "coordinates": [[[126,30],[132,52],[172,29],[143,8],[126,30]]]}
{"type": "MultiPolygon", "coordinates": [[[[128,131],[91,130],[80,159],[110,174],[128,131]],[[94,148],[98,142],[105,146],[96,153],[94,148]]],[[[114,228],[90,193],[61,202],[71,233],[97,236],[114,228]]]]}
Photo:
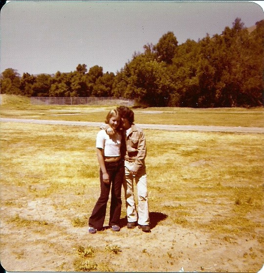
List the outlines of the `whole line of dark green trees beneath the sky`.
{"type": "Polygon", "coordinates": [[[263,106],[264,20],[249,31],[240,18],[221,35],[178,45],[169,31],[134,52],[116,73],[79,64],[74,72],[31,75],[8,68],[1,93],[27,97],[124,97],[146,106],[263,106]]]}

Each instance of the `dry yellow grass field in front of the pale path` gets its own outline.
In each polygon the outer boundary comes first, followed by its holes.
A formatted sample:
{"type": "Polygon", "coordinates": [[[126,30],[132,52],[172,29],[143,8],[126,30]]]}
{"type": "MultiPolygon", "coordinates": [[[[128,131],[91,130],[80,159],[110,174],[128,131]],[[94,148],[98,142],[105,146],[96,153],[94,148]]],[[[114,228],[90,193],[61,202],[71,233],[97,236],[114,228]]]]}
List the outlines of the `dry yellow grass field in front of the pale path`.
{"type": "Polygon", "coordinates": [[[0,260],[7,271],[261,269],[263,134],[146,129],[152,232],[127,229],[123,202],[120,232],[88,234],[99,194],[97,131],[0,124],[0,260]]]}

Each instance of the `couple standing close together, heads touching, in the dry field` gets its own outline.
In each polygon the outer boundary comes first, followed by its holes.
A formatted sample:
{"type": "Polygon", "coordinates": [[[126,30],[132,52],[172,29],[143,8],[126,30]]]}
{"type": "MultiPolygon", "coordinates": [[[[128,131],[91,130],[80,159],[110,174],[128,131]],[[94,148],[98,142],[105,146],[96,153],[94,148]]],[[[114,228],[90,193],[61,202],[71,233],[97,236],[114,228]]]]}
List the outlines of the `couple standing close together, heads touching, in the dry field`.
{"type": "Polygon", "coordinates": [[[121,189],[125,190],[127,227],[138,225],[150,232],[147,174],[145,166],[146,140],[144,132],[134,123],[134,113],[126,106],[111,110],[97,134],[96,150],[100,165],[101,193],[89,218],[89,233],[102,230],[111,190],[109,225],[120,230],[121,189]],[[137,186],[138,210],[133,194],[137,186]]]}

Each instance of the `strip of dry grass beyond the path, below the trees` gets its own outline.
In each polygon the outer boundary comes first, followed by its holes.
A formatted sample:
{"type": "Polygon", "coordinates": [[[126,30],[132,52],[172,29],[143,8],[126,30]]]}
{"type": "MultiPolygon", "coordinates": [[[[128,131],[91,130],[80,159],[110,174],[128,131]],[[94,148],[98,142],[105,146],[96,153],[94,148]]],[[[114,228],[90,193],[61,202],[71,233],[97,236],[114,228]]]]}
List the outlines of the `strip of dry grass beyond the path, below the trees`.
{"type": "MultiPolygon", "coordinates": [[[[31,105],[30,99],[1,95],[2,118],[102,122],[113,106],[31,105]]],[[[264,127],[263,107],[257,108],[181,108],[150,107],[133,109],[141,124],[215,125],[264,127]]]]}

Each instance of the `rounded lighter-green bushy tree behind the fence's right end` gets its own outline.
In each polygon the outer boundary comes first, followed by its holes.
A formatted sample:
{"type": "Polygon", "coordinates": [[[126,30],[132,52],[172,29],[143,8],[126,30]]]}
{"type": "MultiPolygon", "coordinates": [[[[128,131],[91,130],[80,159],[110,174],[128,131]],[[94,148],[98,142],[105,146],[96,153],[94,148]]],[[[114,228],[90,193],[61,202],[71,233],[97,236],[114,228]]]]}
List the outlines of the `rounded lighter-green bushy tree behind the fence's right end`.
{"type": "Polygon", "coordinates": [[[145,50],[145,53],[135,53],[132,61],[115,76],[113,94],[149,106],[166,106],[173,88],[166,64],[156,61],[149,47],[145,50]]]}

